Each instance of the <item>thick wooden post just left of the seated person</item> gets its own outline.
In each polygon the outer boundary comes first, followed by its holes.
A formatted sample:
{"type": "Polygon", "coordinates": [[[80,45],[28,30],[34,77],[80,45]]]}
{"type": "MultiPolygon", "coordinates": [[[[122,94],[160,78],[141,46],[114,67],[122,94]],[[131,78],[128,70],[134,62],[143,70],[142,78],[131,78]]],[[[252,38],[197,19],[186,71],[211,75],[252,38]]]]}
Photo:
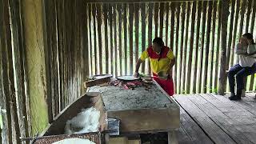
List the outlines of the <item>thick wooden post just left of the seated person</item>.
{"type": "Polygon", "coordinates": [[[222,49],[221,49],[221,67],[219,74],[218,94],[223,95],[226,87],[226,34],[227,18],[229,16],[229,2],[222,1],[222,49]]]}

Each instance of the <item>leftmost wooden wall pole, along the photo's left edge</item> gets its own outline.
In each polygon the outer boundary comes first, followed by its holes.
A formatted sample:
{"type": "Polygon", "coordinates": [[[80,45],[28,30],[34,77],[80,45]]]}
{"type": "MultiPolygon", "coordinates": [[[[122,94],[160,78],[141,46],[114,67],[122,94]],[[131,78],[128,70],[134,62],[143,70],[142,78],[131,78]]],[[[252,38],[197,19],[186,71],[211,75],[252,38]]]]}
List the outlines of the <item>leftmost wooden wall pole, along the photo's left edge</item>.
{"type": "MultiPolygon", "coordinates": [[[[9,13],[8,2],[0,2],[0,107],[2,110],[6,110],[6,113],[0,111],[2,116],[2,130],[0,130],[0,143],[6,142],[8,144],[12,143],[12,123],[11,123],[11,112],[10,112],[10,84],[8,80],[8,59],[6,55],[6,47],[10,40],[8,41],[8,35],[10,36],[10,28],[6,25],[9,23],[9,13]],[[8,29],[9,28],[9,29],[8,29]],[[9,33],[9,34],[8,34],[9,33]]],[[[10,39],[10,37],[9,37],[10,39]]],[[[10,63],[12,65],[12,63],[10,63]]],[[[12,67],[10,67],[12,69],[12,67]]]]}

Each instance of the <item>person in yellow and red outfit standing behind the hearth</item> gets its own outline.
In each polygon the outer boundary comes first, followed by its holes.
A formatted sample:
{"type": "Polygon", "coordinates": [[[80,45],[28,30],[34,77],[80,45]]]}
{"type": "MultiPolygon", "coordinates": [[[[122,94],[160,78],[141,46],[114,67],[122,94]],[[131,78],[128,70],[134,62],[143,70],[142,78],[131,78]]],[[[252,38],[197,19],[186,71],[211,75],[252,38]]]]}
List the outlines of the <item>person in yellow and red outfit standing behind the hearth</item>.
{"type": "Polygon", "coordinates": [[[135,77],[138,77],[138,69],[146,58],[150,58],[150,67],[153,78],[170,96],[174,95],[174,82],[171,75],[172,67],[175,64],[173,51],[164,46],[162,38],[154,38],[153,45],[143,51],[136,63],[135,77]]]}

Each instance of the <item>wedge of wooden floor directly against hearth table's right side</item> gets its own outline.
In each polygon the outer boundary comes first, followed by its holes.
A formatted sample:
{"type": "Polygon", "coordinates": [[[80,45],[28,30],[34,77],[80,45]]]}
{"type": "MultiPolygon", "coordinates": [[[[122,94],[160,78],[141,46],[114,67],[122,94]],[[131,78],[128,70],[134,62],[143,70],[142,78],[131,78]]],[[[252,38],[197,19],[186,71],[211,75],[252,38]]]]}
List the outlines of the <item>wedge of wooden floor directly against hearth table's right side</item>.
{"type": "Polygon", "coordinates": [[[178,143],[196,143],[196,144],[210,144],[214,143],[208,136],[201,130],[196,122],[190,118],[189,114],[182,108],[181,114],[181,127],[178,130],[177,137],[178,143]]]}

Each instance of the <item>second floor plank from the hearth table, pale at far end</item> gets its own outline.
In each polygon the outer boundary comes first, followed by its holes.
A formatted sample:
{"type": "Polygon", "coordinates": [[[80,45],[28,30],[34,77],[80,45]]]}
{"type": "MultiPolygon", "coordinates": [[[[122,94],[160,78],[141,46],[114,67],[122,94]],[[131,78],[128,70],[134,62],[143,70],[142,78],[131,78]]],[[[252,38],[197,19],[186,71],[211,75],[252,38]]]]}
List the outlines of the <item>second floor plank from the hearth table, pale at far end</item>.
{"type": "Polygon", "coordinates": [[[175,99],[182,108],[184,108],[184,110],[194,118],[198,125],[205,130],[206,134],[208,134],[215,143],[237,143],[234,142],[234,140],[230,138],[222,128],[216,125],[216,123],[204,111],[194,104],[189,97],[190,96],[176,96],[175,99]]]}

